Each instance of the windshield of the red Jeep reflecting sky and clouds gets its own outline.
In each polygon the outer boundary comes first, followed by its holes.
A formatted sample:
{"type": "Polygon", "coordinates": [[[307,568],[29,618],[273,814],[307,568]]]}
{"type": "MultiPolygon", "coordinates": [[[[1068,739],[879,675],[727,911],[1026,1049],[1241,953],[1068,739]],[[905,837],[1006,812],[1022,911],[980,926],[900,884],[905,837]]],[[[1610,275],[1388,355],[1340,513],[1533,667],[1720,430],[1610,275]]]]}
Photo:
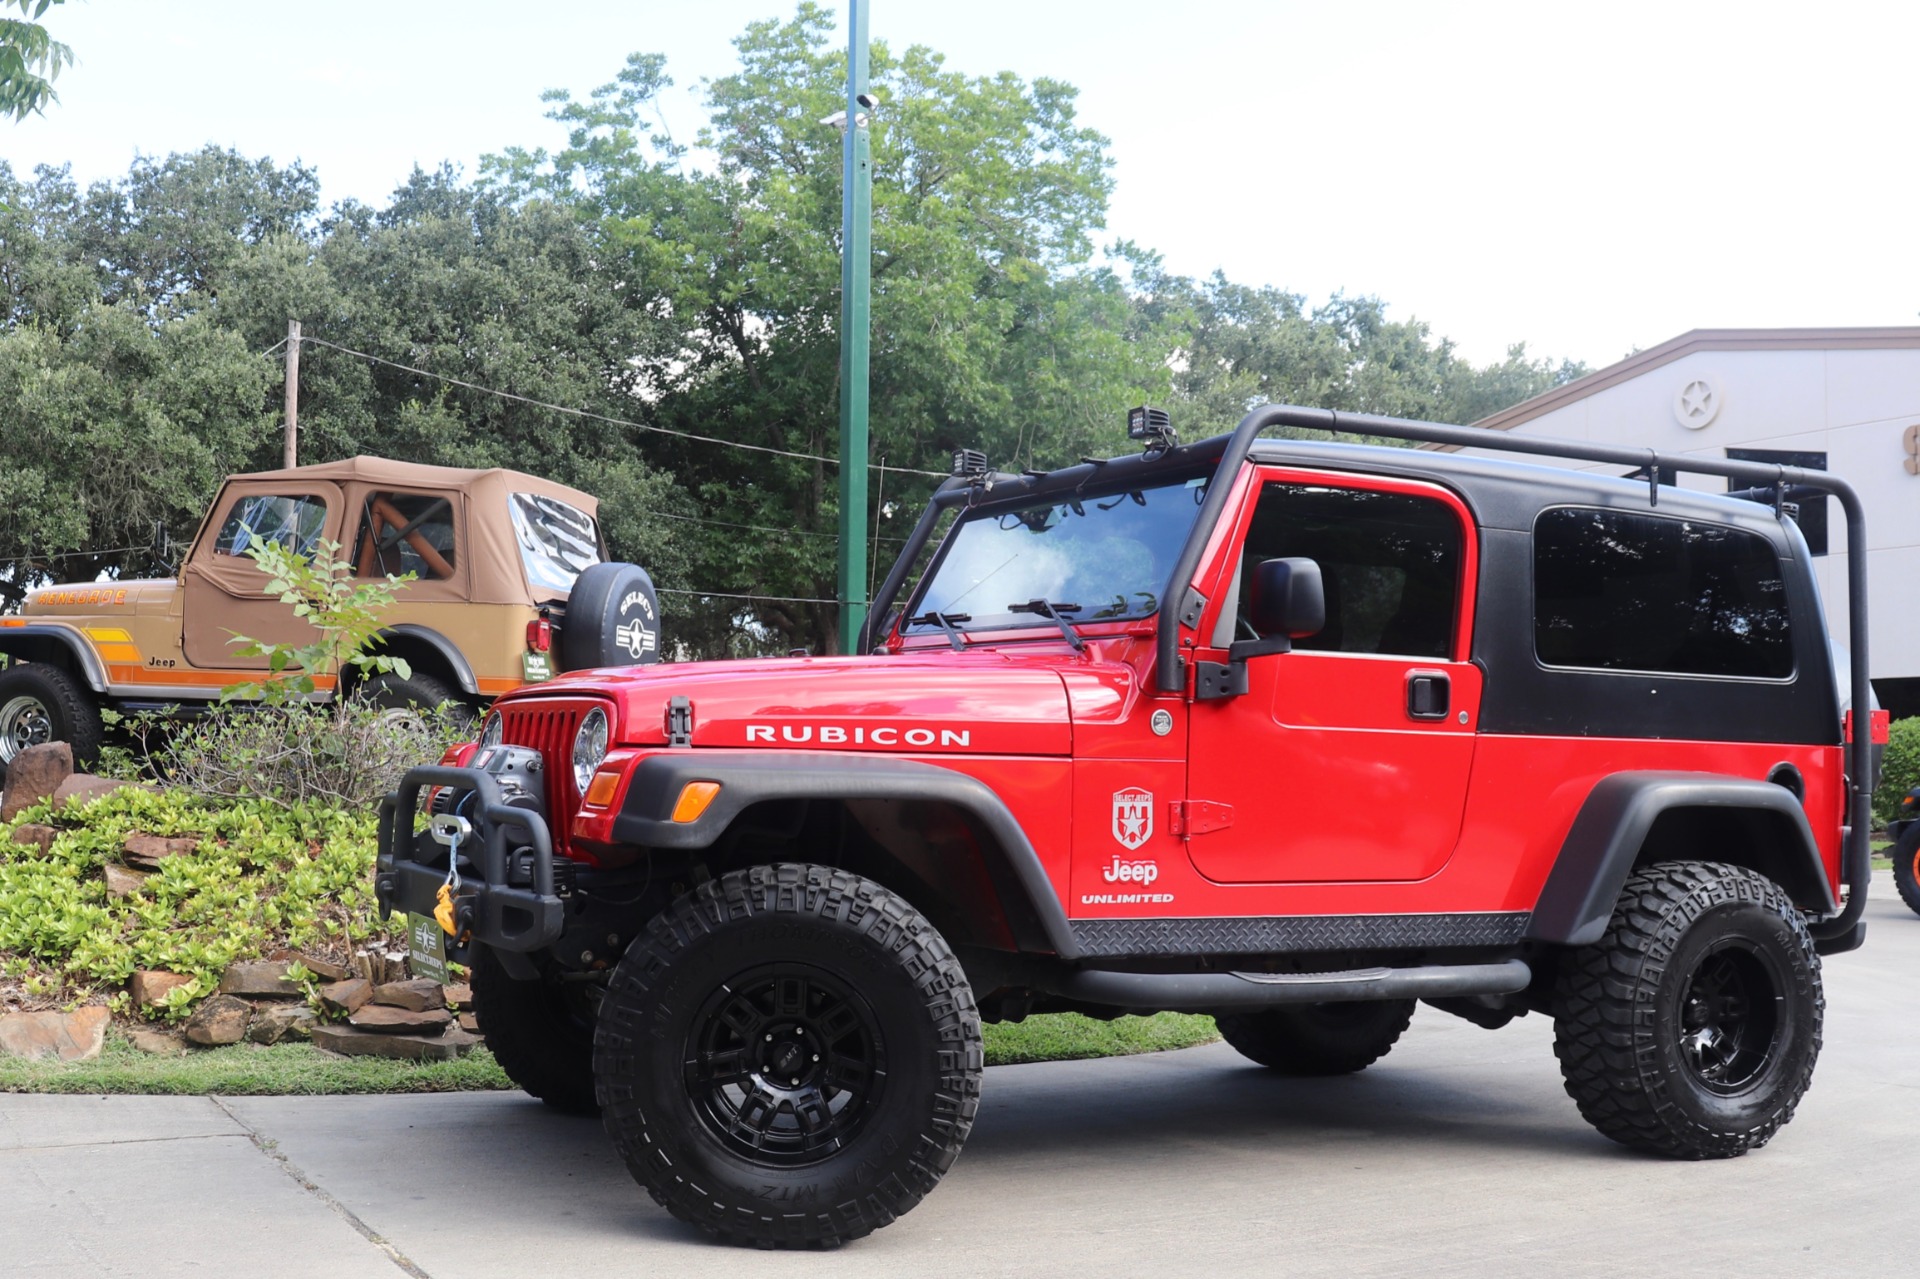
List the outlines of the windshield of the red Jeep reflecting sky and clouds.
{"type": "Polygon", "coordinates": [[[1056,630],[1031,609],[1041,599],[1069,622],[1148,616],[1160,609],[1204,495],[1206,480],[1194,478],[968,515],[914,599],[916,620],[902,630],[939,634],[927,613],[943,613],[962,630],[1056,630]]]}

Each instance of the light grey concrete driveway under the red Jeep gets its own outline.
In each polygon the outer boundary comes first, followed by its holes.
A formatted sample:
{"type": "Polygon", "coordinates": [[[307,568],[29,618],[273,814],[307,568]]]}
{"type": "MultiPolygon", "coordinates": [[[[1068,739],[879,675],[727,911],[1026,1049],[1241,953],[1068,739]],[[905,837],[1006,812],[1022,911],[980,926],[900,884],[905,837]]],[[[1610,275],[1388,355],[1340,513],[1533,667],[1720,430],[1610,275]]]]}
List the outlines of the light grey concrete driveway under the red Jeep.
{"type": "Polygon", "coordinates": [[[1920,916],[1874,887],[1814,1087],[1738,1160],[1630,1154],[1574,1114],[1546,1020],[1430,1008],[1348,1079],[1223,1045],[991,1070],[939,1191],[824,1254],[708,1244],[595,1122],[516,1095],[0,1097],[0,1273],[1912,1275],[1920,916]]]}

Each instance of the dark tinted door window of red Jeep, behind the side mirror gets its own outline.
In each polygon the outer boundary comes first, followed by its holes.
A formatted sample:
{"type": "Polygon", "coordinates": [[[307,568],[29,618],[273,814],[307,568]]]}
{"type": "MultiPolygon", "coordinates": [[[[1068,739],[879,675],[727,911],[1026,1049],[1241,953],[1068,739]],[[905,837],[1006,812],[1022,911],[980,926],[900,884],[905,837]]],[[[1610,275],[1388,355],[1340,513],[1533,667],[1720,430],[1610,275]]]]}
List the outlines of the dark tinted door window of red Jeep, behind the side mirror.
{"type": "Polygon", "coordinates": [[[1283,555],[1313,559],[1327,584],[1327,626],[1294,640],[1296,649],[1452,657],[1461,528],[1446,503],[1267,484],[1246,530],[1238,616],[1246,616],[1254,567],[1283,555]]]}

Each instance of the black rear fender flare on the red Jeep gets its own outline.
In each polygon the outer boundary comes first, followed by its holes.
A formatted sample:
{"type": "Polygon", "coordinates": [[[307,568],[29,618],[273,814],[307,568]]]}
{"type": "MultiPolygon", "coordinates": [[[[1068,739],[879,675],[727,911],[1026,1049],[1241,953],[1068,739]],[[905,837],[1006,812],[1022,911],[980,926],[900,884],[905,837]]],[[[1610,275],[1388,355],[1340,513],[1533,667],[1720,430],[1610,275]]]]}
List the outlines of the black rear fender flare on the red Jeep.
{"type": "Polygon", "coordinates": [[[1774,878],[1801,910],[1812,916],[1839,910],[1807,812],[1784,785],[1711,772],[1617,772],[1596,784],[1580,805],[1540,889],[1526,937],[1572,947],[1599,941],[1647,833],[1674,808],[1743,810],[1784,824],[1791,847],[1784,874],[1774,878]]]}

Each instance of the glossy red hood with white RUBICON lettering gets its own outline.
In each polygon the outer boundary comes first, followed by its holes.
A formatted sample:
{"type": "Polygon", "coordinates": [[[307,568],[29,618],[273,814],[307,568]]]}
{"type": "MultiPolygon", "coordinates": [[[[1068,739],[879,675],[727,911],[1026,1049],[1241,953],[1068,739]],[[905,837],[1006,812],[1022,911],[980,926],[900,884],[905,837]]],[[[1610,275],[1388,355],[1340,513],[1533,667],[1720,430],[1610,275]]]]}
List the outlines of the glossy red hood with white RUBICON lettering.
{"type": "Polygon", "coordinates": [[[902,755],[1069,755],[1058,657],[803,657],[582,670],[511,695],[599,693],[624,745],[664,745],[666,705],[693,705],[693,745],[902,755]]]}

